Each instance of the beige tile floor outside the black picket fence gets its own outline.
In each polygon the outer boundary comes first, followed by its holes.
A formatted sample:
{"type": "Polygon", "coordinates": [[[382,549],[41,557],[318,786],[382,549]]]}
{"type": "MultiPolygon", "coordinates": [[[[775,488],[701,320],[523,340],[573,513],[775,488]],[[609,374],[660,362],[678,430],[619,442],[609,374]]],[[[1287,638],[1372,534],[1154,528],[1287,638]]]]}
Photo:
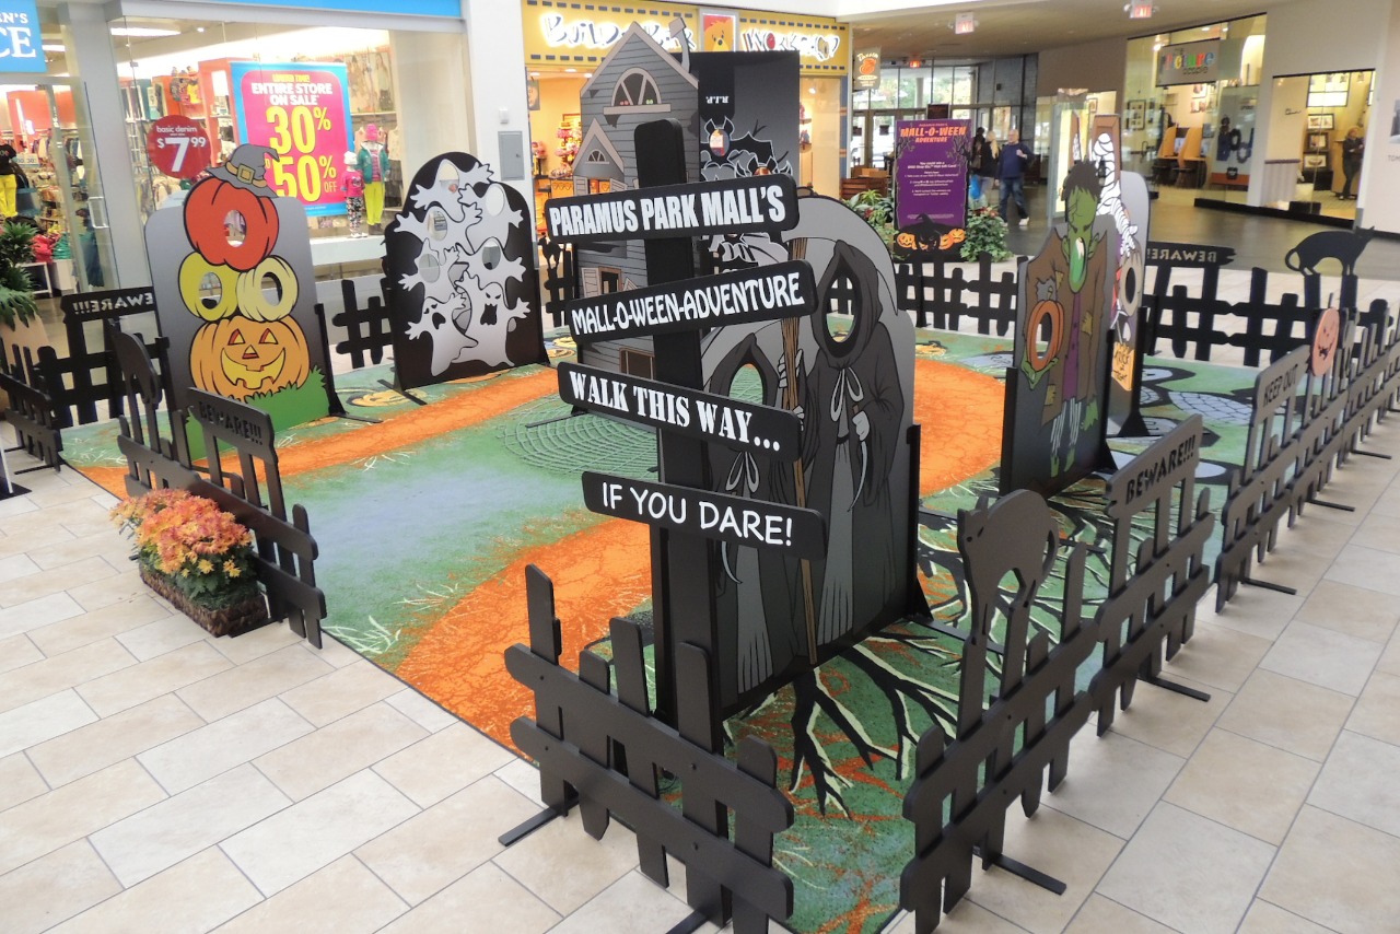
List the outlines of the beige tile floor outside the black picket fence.
{"type": "MultiPolygon", "coordinates": [[[[8,442],[8,428],[0,428],[8,442]]],[[[1400,419],[1371,449],[1400,455],[1400,419]]],[[[25,466],[22,458],[15,463],[25,466]]],[[[946,931],[1385,931],[1400,886],[1400,459],[1355,458],[946,931]]],[[[627,830],[510,850],[532,769],[329,641],[209,639],[148,595],[73,471],[0,501],[0,931],[665,931],[627,830]]],[[[329,595],[335,599],[335,595],[329,595]]],[[[680,877],[680,872],[676,874],[680,877]]],[[[683,892],[682,888],[675,888],[683,892]]],[[[893,928],[913,931],[913,919],[893,928]]]]}

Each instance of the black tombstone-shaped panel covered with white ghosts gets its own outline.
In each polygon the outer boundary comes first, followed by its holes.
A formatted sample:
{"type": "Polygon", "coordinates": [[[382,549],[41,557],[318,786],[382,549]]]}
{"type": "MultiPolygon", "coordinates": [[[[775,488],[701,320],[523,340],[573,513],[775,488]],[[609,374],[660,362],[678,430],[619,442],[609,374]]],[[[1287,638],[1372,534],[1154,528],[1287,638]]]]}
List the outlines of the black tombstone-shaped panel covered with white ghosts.
{"type": "Polygon", "coordinates": [[[399,388],[546,360],[531,217],[519,192],[466,153],[413,176],[384,234],[399,388]]]}

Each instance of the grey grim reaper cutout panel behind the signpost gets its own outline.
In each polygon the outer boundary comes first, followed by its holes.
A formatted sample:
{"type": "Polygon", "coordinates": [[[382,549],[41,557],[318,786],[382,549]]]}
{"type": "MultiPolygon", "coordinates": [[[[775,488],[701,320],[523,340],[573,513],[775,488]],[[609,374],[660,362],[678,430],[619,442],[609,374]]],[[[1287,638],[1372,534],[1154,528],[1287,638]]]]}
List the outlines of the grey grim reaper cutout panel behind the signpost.
{"type": "Polygon", "coordinates": [[[889,251],[854,211],[829,197],[798,200],[784,234],[806,259],[818,311],[732,325],[703,344],[706,388],[802,409],[797,462],[711,444],[715,492],[818,510],[820,560],[717,549],[721,706],[734,710],[904,616],[914,584],[909,428],[914,332],[895,302],[889,251]],[[850,316],[827,316],[839,308],[850,316]]]}

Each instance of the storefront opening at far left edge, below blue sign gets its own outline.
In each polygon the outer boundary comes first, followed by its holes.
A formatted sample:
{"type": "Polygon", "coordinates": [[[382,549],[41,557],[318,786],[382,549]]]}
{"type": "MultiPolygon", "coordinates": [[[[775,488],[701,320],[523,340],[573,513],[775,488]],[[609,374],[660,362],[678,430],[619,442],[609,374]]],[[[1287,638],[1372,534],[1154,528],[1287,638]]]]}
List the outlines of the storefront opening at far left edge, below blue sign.
{"type": "MultiPolygon", "coordinates": [[[[0,74],[0,136],[15,148],[14,217],[39,231],[31,277],[41,294],[115,284],[102,179],[78,81],[0,74]]],[[[0,204],[0,209],[4,206],[0,204]]]]}

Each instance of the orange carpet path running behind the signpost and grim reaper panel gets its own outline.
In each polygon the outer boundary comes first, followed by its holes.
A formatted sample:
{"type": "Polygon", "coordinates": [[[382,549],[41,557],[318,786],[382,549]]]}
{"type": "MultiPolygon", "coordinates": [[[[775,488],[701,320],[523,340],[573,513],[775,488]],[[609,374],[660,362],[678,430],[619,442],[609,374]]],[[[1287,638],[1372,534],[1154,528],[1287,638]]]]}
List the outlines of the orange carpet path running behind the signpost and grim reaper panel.
{"type": "MultiPolygon", "coordinates": [[[[914,419],[925,426],[920,492],[937,492],[995,463],[1001,384],[932,360],[920,360],[914,374],[914,419]]],[[[528,641],[526,564],[554,581],[560,661],[568,668],[577,668],[580,650],[606,634],[613,616],[631,612],[651,592],[647,527],[609,520],[525,552],[433,625],[395,674],[507,746],[511,721],[532,713],[531,692],[510,676],[504,660],[510,646],[528,641]]]]}

